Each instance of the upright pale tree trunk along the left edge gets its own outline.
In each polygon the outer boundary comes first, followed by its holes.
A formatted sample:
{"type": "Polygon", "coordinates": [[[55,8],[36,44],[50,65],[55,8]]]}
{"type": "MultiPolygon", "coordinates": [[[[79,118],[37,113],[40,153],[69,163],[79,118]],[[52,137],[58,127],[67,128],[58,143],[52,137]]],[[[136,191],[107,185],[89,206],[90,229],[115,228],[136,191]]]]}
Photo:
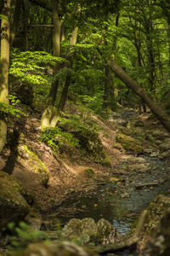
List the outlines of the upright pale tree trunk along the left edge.
{"type": "MultiPolygon", "coordinates": [[[[8,104],[8,63],[9,63],[9,15],[10,0],[3,2],[3,15],[7,20],[1,20],[1,60],[0,60],[0,103],[8,104]]],[[[0,112],[0,153],[6,143],[7,124],[5,116],[0,112]]]]}

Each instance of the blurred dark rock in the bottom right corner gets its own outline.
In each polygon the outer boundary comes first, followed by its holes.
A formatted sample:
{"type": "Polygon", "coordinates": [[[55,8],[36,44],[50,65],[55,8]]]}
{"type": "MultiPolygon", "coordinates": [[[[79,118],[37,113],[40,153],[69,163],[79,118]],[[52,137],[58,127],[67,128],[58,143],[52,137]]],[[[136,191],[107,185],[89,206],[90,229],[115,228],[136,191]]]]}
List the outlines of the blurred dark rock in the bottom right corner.
{"type": "Polygon", "coordinates": [[[150,236],[141,256],[169,256],[170,254],[170,208],[164,213],[156,230],[150,236]]]}

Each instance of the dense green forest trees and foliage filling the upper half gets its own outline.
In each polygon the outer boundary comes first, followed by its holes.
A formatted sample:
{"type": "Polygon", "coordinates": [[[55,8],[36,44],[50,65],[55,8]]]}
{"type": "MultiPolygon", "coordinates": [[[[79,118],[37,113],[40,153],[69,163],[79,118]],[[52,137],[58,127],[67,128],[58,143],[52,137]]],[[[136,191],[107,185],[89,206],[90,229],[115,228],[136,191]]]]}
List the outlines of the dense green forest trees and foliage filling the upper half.
{"type": "Polygon", "coordinates": [[[169,123],[170,108],[169,5],[158,0],[12,0],[10,18],[0,13],[2,42],[3,20],[10,29],[9,94],[26,103],[20,88],[28,90],[31,108],[41,99],[42,126],[56,125],[68,99],[102,113],[116,110],[117,103],[136,108],[140,97],[170,131],[164,121],[166,116],[169,123]],[[118,73],[113,61],[122,67],[118,73]],[[121,70],[138,84],[138,96],[121,70]],[[155,104],[165,110],[158,113],[155,104]]]}

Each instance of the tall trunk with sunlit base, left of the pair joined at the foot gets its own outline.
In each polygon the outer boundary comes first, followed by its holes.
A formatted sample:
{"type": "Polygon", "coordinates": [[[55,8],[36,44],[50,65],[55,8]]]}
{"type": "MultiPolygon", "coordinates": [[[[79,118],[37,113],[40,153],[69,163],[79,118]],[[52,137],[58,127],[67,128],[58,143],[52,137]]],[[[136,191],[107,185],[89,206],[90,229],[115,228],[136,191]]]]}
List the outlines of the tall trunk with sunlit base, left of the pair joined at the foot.
{"type": "MultiPolygon", "coordinates": [[[[52,0],[53,6],[53,22],[54,22],[54,40],[53,40],[53,55],[59,57],[60,54],[60,26],[61,22],[59,20],[59,12],[58,12],[58,1],[52,0]]],[[[54,68],[54,75],[58,72],[59,65],[54,68]]],[[[47,108],[42,113],[42,128],[50,127],[53,110],[54,110],[54,103],[57,96],[59,80],[56,79],[52,84],[49,90],[48,96],[48,103],[47,108]]]]}

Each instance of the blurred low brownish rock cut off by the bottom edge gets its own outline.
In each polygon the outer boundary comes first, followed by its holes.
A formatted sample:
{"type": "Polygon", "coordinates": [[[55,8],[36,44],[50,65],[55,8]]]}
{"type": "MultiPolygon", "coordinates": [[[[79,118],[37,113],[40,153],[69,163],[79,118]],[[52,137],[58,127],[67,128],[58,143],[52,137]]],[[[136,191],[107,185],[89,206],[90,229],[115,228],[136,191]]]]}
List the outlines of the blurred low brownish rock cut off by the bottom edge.
{"type": "Polygon", "coordinates": [[[98,256],[92,250],[69,241],[34,243],[26,248],[23,256],[98,256]]]}

